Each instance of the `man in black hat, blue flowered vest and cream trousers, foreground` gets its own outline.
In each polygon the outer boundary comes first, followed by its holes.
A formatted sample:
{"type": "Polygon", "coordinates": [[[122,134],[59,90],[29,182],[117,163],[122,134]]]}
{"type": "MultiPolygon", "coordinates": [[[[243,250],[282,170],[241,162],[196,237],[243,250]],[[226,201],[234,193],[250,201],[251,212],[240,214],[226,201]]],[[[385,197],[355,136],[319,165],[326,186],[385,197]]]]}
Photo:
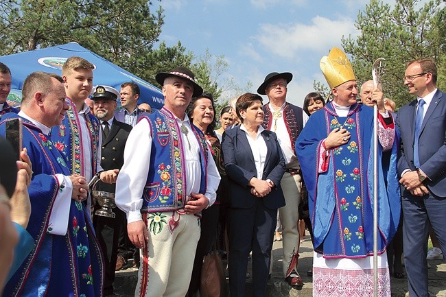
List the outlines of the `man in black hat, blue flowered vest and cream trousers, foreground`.
{"type": "Polygon", "coordinates": [[[130,132],[116,185],[128,236],[141,248],[135,296],[184,297],[200,239],[202,209],[213,204],[220,175],[200,129],[185,114],[202,93],[185,67],[158,73],[165,106],[130,132]],[[208,156],[209,155],[209,156],[208,156]]]}

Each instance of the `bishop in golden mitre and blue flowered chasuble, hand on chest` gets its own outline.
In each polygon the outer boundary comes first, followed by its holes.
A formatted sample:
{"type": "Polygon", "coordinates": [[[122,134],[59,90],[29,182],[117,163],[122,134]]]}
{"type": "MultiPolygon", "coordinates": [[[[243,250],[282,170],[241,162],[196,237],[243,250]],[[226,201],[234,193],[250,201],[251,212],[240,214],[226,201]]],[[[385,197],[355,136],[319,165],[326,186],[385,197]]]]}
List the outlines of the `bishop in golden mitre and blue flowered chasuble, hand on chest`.
{"type": "MultiPolygon", "coordinates": [[[[296,141],[314,232],[313,296],[373,296],[373,108],[357,104],[355,74],[340,49],[331,49],[320,69],[333,101],[309,117],[296,141]]],[[[397,141],[382,92],[374,90],[372,101],[379,110],[378,291],[390,296],[386,245],[401,211],[397,141]],[[392,150],[387,169],[384,150],[392,150]]]]}

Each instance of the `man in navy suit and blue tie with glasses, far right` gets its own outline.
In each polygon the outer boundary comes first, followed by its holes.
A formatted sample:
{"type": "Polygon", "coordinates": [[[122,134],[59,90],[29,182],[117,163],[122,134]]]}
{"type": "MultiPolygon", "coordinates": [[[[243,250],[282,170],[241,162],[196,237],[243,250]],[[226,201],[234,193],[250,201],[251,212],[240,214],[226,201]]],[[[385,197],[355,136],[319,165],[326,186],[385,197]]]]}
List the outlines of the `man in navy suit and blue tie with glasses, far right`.
{"type": "MultiPolygon", "coordinates": [[[[417,99],[400,108],[399,182],[403,191],[404,261],[409,294],[429,296],[427,290],[427,236],[434,228],[443,255],[446,252],[446,95],[436,88],[432,60],[408,63],[404,84],[417,99]]],[[[444,258],[443,258],[444,259],[444,258]]]]}

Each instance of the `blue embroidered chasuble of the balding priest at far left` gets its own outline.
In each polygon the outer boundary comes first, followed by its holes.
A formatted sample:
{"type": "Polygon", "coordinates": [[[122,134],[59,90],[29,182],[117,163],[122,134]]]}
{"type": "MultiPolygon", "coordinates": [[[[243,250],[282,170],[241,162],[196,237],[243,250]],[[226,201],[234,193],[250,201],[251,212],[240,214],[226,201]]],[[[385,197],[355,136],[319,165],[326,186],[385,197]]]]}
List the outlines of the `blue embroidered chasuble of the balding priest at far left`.
{"type": "MultiPolygon", "coordinates": [[[[1,135],[5,134],[5,121],[16,117],[13,113],[3,115],[1,135]]],[[[65,158],[50,136],[26,119],[23,147],[34,171],[28,190],[32,212],[27,226],[34,249],[5,285],[3,296],[102,296],[102,256],[84,204],[71,200],[65,235],[49,233],[56,196],[66,191],[56,174],[71,175],[65,158]]]]}

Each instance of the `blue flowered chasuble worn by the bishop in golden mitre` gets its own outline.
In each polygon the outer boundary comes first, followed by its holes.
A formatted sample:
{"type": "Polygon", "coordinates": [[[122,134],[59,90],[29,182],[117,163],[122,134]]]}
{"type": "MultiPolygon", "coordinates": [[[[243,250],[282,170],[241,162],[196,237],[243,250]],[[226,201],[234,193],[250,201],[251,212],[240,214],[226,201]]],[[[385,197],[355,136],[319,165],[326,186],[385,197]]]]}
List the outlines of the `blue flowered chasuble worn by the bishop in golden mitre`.
{"type": "MultiPolygon", "coordinates": [[[[354,104],[347,117],[338,117],[333,106],[327,104],[309,117],[296,141],[296,155],[308,189],[316,252],[325,258],[352,259],[373,254],[373,108],[354,104]],[[329,151],[329,167],[319,174],[320,145],[336,128],[347,129],[351,138],[329,151]]],[[[399,223],[396,161],[394,141],[388,167],[383,171],[382,147],[378,145],[379,254],[399,223]]]]}

